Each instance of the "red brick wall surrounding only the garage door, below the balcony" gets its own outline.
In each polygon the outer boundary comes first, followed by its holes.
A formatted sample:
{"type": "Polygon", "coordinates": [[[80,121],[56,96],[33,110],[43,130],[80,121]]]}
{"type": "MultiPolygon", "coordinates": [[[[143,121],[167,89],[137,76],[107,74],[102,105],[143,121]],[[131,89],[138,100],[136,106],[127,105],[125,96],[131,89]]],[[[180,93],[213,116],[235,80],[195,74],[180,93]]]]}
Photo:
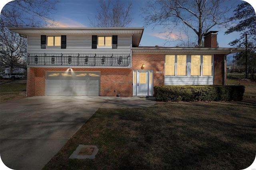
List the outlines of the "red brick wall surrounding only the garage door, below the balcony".
{"type": "MultiPolygon", "coordinates": [[[[45,72],[66,71],[67,68],[28,67],[28,97],[45,95],[45,72]]],[[[100,71],[100,95],[132,97],[132,69],[130,68],[72,68],[73,71],[100,71]],[[114,92],[116,90],[116,92],[114,92]]]]}

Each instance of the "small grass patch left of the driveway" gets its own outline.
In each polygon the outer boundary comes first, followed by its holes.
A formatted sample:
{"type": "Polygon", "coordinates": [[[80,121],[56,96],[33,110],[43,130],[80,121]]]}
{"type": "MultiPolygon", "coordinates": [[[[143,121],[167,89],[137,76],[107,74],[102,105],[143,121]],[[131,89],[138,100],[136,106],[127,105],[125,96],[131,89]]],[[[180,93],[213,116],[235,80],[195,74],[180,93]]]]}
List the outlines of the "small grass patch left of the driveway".
{"type": "Polygon", "coordinates": [[[0,85],[0,103],[26,97],[27,83],[0,85]]]}

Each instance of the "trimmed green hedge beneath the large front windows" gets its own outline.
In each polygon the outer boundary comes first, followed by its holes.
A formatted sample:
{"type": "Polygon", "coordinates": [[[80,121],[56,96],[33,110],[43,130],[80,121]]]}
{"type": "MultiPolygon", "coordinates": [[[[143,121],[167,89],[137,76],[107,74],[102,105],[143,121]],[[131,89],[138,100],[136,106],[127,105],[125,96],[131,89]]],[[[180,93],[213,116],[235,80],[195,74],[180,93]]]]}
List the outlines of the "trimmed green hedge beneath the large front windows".
{"type": "Polygon", "coordinates": [[[156,101],[242,101],[244,86],[170,85],[155,86],[156,101]]]}

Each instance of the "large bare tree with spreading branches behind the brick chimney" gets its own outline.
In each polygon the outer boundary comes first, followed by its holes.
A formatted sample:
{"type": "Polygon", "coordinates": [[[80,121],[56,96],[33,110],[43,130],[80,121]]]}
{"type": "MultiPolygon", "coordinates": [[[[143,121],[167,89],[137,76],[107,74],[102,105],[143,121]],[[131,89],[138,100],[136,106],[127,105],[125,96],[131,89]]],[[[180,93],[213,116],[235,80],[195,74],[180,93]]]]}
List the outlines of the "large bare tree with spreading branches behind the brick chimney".
{"type": "Polygon", "coordinates": [[[169,34],[186,25],[197,36],[197,45],[202,47],[203,35],[214,26],[228,26],[232,2],[225,6],[224,0],[156,0],[149,1],[142,8],[146,26],[154,24],[166,28],[169,34]]]}

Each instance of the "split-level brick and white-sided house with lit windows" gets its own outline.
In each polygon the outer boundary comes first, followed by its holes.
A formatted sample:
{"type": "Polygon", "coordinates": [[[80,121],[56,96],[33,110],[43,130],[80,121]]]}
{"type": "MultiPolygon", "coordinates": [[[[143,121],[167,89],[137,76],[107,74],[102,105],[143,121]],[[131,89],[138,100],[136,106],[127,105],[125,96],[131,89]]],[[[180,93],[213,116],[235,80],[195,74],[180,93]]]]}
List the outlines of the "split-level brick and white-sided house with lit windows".
{"type": "MultiPolygon", "coordinates": [[[[204,47],[139,46],[144,28],[9,28],[27,38],[27,96],[153,96],[154,86],[225,85],[217,32],[204,47]]],[[[154,44],[154,42],[152,42],[154,44]]]]}

